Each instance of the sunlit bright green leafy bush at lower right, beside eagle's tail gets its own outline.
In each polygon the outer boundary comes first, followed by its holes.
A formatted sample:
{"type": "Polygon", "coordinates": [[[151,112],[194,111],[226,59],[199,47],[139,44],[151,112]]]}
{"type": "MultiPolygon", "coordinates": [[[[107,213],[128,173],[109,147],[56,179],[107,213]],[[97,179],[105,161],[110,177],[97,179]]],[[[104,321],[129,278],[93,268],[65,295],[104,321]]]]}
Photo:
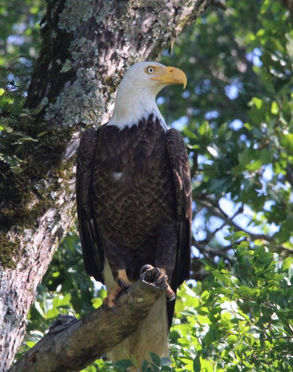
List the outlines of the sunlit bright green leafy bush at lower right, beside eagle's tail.
{"type": "Polygon", "coordinates": [[[264,246],[251,250],[242,237],[227,237],[233,267],[220,260],[205,284],[178,294],[176,371],[292,370],[293,259],[282,261],[264,246]]]}

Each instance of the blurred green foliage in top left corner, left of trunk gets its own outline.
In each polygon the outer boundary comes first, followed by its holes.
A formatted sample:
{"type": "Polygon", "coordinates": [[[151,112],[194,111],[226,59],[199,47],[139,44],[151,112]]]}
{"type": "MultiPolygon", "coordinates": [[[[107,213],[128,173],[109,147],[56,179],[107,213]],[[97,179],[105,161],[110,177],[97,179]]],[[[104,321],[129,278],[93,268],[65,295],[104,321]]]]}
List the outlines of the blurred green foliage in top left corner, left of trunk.
{"type": "MultiPolygon", "coordinates": [[[[0,1],[0,113],[16,116],[26,96],[32,62],[40,45],[42,0],[0,1]]],[[[1,115],[1,116],[2,116],[1,115]]]]}

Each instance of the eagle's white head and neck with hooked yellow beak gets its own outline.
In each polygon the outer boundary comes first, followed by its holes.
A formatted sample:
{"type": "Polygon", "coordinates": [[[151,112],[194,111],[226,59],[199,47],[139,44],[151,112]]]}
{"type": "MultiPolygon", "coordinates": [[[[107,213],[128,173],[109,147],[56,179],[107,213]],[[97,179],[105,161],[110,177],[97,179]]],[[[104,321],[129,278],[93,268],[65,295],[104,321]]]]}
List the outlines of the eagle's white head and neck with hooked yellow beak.
{"type": "Polygon", "coordinates": [[[186,86],[186,75],[175,67],[166,67],[156,62],[139,62],[125,73],[116,93],[112,118],[107,125],[119,128],[131,127],[153,113],[166,127],[158,109],[156,96],[170,84],[186,86]]]}

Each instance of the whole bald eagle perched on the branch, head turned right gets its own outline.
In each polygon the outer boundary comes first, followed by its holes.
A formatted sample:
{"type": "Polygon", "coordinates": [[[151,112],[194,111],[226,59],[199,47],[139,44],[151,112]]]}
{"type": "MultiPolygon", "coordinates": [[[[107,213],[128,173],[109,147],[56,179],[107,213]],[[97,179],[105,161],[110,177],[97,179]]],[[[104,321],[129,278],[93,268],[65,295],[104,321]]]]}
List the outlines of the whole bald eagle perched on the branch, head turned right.
{"type": "Polygon", "coordinates": [[[163,87],[186,82],[178,68],[133,65],[117,89],[110,121],[87,129],[80,141],[76,197],[87,274],[106,285],[113,310],[117,295],[152,266],[168,283],[144,323],[110,352],[112,360],[125,358],[121,349],[139,363],[149,351],[168,356],[172,300],[190,276],[189,160],[155,100],[163,87]]]}

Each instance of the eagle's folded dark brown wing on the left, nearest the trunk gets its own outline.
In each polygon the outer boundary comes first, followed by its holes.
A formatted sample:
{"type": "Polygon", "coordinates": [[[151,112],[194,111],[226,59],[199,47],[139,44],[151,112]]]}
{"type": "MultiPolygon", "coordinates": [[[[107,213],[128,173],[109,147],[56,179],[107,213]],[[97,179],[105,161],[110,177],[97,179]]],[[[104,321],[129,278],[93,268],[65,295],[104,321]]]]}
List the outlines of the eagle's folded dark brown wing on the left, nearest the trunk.
{"type": "Polygon", "coordinates": [[[80,140],[76,165],[76,201],[78,230],[88,275],[103,283],[104,251],[93,216],[92,178],[98,132],[87,129],[80,140]]]}

